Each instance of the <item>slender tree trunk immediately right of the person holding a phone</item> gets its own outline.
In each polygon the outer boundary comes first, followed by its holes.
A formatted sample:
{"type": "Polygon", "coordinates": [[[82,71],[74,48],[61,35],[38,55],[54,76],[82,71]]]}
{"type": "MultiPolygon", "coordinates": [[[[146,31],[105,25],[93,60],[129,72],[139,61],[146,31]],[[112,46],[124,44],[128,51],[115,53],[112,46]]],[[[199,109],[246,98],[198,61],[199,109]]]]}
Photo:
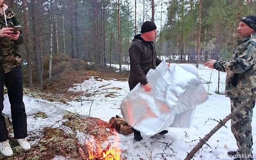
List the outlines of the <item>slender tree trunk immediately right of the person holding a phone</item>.
{"type": "MultiPolygon", "coordinates": [[[[13,0],[12,0],[13,2],[13,0]]],[[[30,59],[30,50],[29,50],[29,31],[28,31],[28,12],[27,12],[27,3],[26,0],[22,0],[23,6],[23,16],[24,16],[24,33],[25,33],[25,47],[26,47],[26,57],[28,63],[28,87],[33,87],[32,84],[32,68],[31,68],[31,59],[30,59]]]]}

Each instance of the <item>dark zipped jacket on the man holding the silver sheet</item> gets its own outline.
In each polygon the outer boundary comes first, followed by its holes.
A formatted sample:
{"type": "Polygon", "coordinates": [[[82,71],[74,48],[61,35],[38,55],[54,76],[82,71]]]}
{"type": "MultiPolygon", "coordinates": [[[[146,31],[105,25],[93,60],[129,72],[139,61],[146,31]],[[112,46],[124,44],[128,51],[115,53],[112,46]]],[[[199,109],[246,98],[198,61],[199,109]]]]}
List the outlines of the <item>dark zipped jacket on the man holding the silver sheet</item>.
{"type": "Polygon", "coordinates": [[[134,36],[129,48],[129,56],[131,65],[129,84],[135,86],[138,83],[147,84],[146,74],[148,71],[151,68],[155,69],[162,62],[156,57],[154,43],[145,41],[141,34],[134,36]]]}

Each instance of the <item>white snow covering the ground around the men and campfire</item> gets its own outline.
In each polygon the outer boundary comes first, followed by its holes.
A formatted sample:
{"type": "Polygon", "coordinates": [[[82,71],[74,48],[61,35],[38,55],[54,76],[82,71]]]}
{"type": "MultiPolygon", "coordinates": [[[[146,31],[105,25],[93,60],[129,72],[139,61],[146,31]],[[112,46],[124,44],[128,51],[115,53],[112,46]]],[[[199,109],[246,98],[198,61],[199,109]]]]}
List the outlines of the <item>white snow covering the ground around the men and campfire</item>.
{"type": "MultiPolygon", "coordinates": [[[[192,65],[192,64],[191,64],[192,65]]],[[[153,138],[146,137],[142,134],[143,140],[135,142],[133,140],[133,134],[124,136],[119,134],[120,147],[125,150],[123,156],[128,160],[160,160],[166,158],[166,160],[184,160],[187,152],[190,152],[192,148],[199,142],[200,138],[203,138],[217,122],[211,119],[223,119],[230,113],[230,101],[224,95],[216,94],[218,90],[218,71],[211,70],[209,68],[200,65],[198,69],[202,82],[211,82],[210,84],[204,84],[205,88],[211,94],[209,100],[204,104],[201,104],[196,108],[196,113],[192,123],[192,127],[188,129],[180,128],[167,128],[168,134],[163,136],[154,136],[153,138]]],[[[220,72],[220,92],[224,92],[226,74],[220,72]]],[[[70,88],[70,90],[79,92],[80,84],[70,88]]],[[[122,116],[120,110],[120,103],[122,99],[129,92],[128,82],[118,82],[116,80],[102,80],[96,81],[92,77],[90,80],[86,80],[82,83],[82,91],[86,94],[96,93],[92,96],[83,96],[82,105],[81,102],[74,100],[69,102],[68,105],[47,102],[44,100],[30,98],[24,96],[24,103],[28,112],[28,132],[44,127],[45,125],[52,125],[55,121],[60,120],[62,111],[68,110],[71,112],[77,112],[79,114],[89,115],[100,118],[106,122],[111,117],[119,115],[122,116]],[[46,112],[50,118],[34,119],[33,116],[29,116],[35,112],[46,112]]],[[[6,104],[4,113],[10,115],[8,97],[5,95],[6,104]]],[[[256,123],[255,116],[253,117],[253,136],[256,137],[256,123]]],[[[229,150],[236,150],[236,141],[232,135],[230,129],[230,121],[226,124],[227,128],[222,127],[214,136],[207,142],[209,146],[204,145],[195,155],[194,160],[232,160],[234,158],[228,158],[226,153],[229,150]]],[[[114,137],[110,137],[109,142],[112,142],[114,137]]],[[[253,142],[255,143],[256,138],[253,142]]],[[[106,142],[108,144],[108,142],[106,142]]],[[[104,146],[102,146],[104,147],[104,146]]],[[[256,155],[256,151],[254,151],[256,155]]],[[[55,158],[58,159],[58,158],[55,158]]]]}

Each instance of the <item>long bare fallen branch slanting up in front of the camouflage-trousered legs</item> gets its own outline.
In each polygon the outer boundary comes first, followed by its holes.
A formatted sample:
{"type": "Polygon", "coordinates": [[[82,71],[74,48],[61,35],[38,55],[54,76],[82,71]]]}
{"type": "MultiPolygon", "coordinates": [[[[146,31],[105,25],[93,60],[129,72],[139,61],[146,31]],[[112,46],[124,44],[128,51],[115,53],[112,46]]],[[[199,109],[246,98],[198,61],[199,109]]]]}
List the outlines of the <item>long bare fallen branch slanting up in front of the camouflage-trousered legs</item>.
{"type": "Polygon", "coordinates": [[[201,139],[198,144],[188,153],[188,155],[186,156],[186,158],[184,160],[190,160],[191,158],[193,158],[193,156],[196,154],[196,152],[202,148],[202,146],[204,144],[206,144],[206,142],[211,138],[211,136],[216,133],[222,126],[224,126],[226,124],[226,122],[228,122],[228,120],[230,120],[237,112],[238,110],[240,110],[242,107],[245,106],[245,104],[248,104],[248,102],[250,100],[252,100],[252,97],[249,97],[247,100],[245,100],[242,105],[238,108],[236,108],[233,112],[231,112],[228,116],[226,116],[226,118],[224,118],[223,120],[220,120],[220,122],[217,124],[217,126],[215,126],[208,134],[206,134],[204,136],[203,139],[201,139]]]}

